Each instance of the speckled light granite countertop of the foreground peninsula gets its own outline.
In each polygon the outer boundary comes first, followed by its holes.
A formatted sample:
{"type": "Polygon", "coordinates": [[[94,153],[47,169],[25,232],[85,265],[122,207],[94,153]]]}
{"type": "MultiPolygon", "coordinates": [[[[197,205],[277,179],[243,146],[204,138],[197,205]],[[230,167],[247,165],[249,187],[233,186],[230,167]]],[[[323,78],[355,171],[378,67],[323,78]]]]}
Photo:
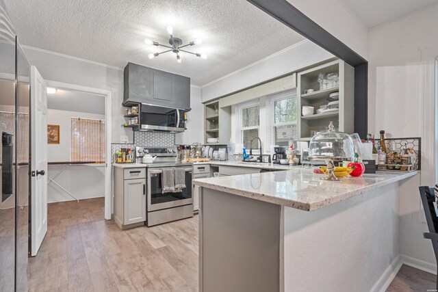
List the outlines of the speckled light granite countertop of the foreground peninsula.
{"type": "Polygon", "coordinates": [[[193,183],[237,196],[314,211],[417,173],[418,171],[376,172],[333,182],[322,181],[320,177],[324,174],[314,174],[312,168],[298,166],[282,172],[199,178],[194,179],[193,183]]]}

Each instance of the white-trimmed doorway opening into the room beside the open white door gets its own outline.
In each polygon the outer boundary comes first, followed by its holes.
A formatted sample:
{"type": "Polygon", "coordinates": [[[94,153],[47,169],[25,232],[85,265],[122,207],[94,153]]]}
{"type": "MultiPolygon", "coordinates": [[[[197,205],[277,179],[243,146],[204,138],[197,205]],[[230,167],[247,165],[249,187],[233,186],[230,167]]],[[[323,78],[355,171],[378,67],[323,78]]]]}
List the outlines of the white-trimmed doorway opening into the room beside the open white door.
{"type": "MultiPolygon", "coordinates": [[[[109,220],[112,213],[111,92],[46,82],[49,88],[48,202],[80,202],[103,197],[103,216],[109,220]]],[[[96,204],[99,205],[94,200],[92,205],[96,204]]]]}

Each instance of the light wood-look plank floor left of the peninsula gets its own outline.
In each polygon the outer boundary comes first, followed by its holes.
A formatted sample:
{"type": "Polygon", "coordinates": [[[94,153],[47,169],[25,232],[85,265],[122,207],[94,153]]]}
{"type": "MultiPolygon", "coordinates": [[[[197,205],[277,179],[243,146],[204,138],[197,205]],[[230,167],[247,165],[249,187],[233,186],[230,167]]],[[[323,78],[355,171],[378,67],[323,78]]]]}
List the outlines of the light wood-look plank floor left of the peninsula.
{"type": "Polygon", "coordinates": [[[122,231],[103,198],[49,204],[29,291],[197,291],[198,218],[122,231]]]}

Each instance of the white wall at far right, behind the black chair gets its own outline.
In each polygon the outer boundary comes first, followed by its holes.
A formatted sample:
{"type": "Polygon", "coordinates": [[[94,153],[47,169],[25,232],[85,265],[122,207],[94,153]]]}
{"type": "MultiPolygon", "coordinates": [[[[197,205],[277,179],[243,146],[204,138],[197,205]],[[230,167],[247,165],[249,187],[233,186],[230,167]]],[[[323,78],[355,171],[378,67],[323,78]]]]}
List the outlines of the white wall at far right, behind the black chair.
{"type": "Polygon", "coordinates": [[[372,29],[369,34],[368,129],[390,137],[422,137],[422,174],[401,185],[400,252],[422,267],[434,267],[418,193],[435,184],[433,75],[438,56],[438,6],[372,29]]]}

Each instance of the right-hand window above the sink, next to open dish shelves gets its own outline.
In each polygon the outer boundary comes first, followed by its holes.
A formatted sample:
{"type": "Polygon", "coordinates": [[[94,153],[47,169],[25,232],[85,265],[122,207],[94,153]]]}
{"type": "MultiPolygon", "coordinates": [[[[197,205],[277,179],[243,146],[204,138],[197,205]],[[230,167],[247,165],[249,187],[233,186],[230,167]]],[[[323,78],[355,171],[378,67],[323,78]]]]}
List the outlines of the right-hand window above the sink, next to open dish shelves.
{"type": "Polygon", "coordinates": [[[269,145],[289,146],[297,138],[296,90],[271,96],[269,105],[269,145]]]}

